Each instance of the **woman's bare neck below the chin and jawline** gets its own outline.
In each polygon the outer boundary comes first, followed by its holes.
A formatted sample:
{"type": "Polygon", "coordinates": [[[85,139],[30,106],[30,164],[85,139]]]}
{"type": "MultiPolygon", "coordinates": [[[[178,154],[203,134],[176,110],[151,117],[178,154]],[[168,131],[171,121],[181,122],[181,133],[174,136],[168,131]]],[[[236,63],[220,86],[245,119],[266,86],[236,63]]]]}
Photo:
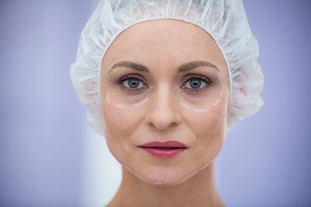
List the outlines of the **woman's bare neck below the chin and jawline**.
{"type": "Polygon", "coordinates": [[[107,207],[225,207],[215,187],[214,162],[172,187],[149,185],[123,167],[122,183],[107,207]]]}

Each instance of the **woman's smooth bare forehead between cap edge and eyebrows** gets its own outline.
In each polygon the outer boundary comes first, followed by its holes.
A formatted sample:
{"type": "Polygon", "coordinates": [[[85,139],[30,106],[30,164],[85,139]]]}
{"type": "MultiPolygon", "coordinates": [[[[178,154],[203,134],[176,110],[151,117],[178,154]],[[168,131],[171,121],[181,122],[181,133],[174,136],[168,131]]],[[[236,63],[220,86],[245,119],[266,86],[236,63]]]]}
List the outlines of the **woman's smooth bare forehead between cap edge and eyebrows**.
{"type": "Polygon", "coordinates": [[[124,30],[107,50],[103,67],[119,61],[157,67],[209,61],[218,68],[226,68],[221,51],[204,29],[175,19],[144,21],[124,30]]]}

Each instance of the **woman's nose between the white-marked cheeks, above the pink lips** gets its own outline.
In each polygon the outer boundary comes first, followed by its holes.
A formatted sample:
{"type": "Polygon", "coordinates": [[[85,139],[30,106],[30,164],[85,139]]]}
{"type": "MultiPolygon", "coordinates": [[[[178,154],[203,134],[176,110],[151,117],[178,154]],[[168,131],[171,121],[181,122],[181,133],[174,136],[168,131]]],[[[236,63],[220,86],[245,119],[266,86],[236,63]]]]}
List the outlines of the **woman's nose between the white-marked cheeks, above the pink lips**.
{"type": "Polygon", "coordinates": [[[151,100],[145,123],[154,126],[158,130],[165,130],[170,126],[181,123],[181,116],[177,110],[178,99],[167,87],[155,90],[151,100]]]}

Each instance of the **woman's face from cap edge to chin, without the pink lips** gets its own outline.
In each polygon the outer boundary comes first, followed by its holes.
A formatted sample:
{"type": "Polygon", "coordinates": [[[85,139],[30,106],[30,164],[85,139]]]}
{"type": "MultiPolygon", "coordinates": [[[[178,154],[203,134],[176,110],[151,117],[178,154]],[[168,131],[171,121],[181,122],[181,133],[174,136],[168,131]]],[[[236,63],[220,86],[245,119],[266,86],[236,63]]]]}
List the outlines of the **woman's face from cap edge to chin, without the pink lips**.
{"type": "Polygon", "coordinates": [[[104,56],[100,95],[110,152],[151,185],[186,181],[225,142],[226,62],[212,37],[191,23],[150,20],[123,31],[104,56]],[[154,140],[177,140],[187,148],[159,158],[138,147],[154,140]]]}

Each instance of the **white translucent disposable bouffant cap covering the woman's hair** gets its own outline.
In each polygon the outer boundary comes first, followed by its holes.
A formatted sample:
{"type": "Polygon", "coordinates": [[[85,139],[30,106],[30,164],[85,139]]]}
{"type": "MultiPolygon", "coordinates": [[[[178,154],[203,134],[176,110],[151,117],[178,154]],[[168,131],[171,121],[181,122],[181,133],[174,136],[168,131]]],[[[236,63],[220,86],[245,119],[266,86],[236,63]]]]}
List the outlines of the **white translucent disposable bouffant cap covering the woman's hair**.
{"type": "Polygon", "coordinates": [[[203,28],[221,50],[230,77],[228,132],[263,105],[264,77],[258,42],[250,31],[241,0],[101,0],[84,26],[70,77],[78,99],[87,105],[87,121],[104,136],[99,94],[103,57],[128,27],[153,19],[178,19],[203,28]]]}

